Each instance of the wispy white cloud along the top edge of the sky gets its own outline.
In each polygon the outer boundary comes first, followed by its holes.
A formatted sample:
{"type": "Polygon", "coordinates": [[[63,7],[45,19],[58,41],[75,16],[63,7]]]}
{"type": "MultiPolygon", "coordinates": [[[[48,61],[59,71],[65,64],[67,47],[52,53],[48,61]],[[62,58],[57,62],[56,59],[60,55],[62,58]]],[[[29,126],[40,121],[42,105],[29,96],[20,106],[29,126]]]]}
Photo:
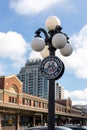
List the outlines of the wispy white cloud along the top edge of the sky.
{"type": "Polygon", "coordinates": [[[63,1],[65,2],[65,0],[11,0],[10,7],[21,15],[37,14],[53,6],[53,4],[63,1]]]}

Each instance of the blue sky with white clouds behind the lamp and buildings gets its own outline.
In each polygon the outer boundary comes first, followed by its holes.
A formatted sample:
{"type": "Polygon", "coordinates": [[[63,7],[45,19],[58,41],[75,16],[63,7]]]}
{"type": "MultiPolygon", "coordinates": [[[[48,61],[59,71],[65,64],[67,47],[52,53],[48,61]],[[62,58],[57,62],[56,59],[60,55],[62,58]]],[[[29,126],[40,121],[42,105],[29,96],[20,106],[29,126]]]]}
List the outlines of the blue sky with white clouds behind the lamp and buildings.
{"type": "Polygon", "coordinates": [[[41,57],[31,42],[49,16],[60,19],[73,48],[69,57],[57,49],[65,72],[56,82],[73,105],[87,105],[87,0],[0,0],[0,75],[18,74],[27,59],[41,57]]]}

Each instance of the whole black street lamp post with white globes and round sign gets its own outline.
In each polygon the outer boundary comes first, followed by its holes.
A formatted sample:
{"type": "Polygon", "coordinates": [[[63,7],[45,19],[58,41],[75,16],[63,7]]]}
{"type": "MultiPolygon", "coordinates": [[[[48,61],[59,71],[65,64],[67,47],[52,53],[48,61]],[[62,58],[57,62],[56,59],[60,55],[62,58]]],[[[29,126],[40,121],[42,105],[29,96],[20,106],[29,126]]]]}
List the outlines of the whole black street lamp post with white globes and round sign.
{"type": "Polygon", "coordinates": [[[32,40],[32,49],[40,52],[44,57],[41,63],[41,72],[49,80],[48,96],[48,130],[54,130],[55,125],[55,80],[59,79],[64,73],[64,64],[61,59],[55,56],[56,49],[60,49],[63,56],[69,56],[72,53],[72,47],[68,36],[63,33],[60,20],[56,16],[50,16],[46,20],[48,32],[39,28],[35,32],[35,38],[32,40]],[[41,33],[44,34],[42,39],[41,33]]]}

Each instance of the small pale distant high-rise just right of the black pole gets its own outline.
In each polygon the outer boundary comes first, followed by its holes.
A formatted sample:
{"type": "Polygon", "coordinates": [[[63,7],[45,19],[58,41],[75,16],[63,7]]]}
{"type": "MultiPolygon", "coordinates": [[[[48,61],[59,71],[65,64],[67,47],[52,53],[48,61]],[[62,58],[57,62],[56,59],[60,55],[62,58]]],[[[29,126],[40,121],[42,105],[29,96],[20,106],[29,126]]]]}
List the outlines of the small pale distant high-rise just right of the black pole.
{"type": "Polygon", "coordinates": [[[64,99],[64,87],[59,83],[55,83],[55,100],[64,99]]]}

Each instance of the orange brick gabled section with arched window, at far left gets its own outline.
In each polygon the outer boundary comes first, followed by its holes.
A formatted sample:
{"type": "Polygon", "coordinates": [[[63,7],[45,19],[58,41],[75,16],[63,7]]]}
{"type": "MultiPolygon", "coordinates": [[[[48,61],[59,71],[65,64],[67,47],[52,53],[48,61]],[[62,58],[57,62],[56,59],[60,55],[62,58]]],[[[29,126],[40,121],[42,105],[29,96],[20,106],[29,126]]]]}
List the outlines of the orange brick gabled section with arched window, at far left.
{"type": "Polygon", "coordinates": [[[4,95],[1,94],[0,100],[4,103],[12,102],[22,104],[22,82],[18,80],[18,78],[14,76],[9,77],[0,77],[0,89],[4,90],[4,95]],[[9,95],[8,95],[9,92],[9,95]]]}

